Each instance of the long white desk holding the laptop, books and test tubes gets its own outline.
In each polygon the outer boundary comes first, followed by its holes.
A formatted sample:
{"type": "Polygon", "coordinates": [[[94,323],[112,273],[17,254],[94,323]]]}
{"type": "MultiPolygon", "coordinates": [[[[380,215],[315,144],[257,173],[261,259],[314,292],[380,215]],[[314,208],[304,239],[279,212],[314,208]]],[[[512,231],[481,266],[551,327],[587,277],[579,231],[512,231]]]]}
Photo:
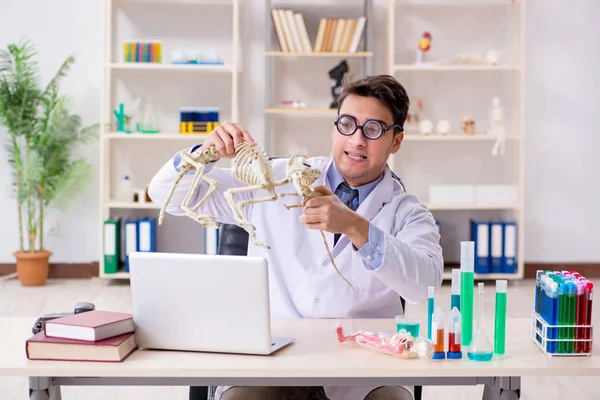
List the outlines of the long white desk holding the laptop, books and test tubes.
{"type": "MultiPolygon", "coordinates": [[[[32,336],[34,319],[0,318],[0,376],[29,377],[32,399],[56,400],[60,399],[61,385],[363,384],[484,384],[486,399],[516,399],[521,377],[600,375],[597,353],[590,357],[561,358],[542,353],[530,338],[529,319],[508,321],[507,354],[487,363],[470,361],[466,349],[462,360],[421,361],[398,359],[356,344],[342,345],[334,331],[338,322],[274,321],[274,335],[293,336],[297,340],[271,356],[137,350],[123,363],[82,363],[27,360],[25,340],[32,336]]],[[[390,332],[395,327],[393,320],[355,322],[361,330],[390,332]]]]}

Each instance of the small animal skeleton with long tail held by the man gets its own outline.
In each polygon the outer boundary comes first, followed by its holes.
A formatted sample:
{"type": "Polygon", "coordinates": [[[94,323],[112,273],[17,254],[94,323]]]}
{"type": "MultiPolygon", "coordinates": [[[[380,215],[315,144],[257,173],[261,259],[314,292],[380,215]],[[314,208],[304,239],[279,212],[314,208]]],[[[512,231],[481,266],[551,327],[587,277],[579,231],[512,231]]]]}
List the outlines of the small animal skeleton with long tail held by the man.
{"type": "MultiPolygon", "coordinates": [[[[206,176],[206,164],[219,158],[218,149],[214,145],[208,147],[207,149],[200,147],[192,153],[188,153],[187,151],[183,150],[181,151],[180,155],[181,162],[178,165],[179,173],[173,181],[171,189],[169,190],[169,193],[167,194],[167,197],[160,209],[158,224],[161,225],[164,220],[165,211],[171,198],[173,197],[173,193],[175,192],[177,184],[187,173],[195,171],[192,184],[190,185],[190,188],[188,189],[188,192],[181,204],[181,210],[186,216],[198,222],[203,227],[219,227],[220,224],[216,220],[215,216],[199,215],[197,213],[200,206],[219,187],[219,182],[217,180],[206,176]],[[208,189],[200,201],[198,201],[198,203],[194,206],[191,206],[190,203],[193,195],[200,186],[202,180],[208,183],[208,189]]],[[[227,200],[229,207],[231,207],[233,211],[233,215],[237,224],[246,230],[246,232],[248,232],[250,236],[249,239],[255,245],[265,249],[270,249],[270,246],[258,240],[256,237],[256,227],[248,220],[246,213],[244,212],[244,207],[249,204],[276,201],[279,197],[283,196],[302,197],[302,201],[297,204],[291,206],[284,205],[289,210],[293,207],[303,207],[308,199],[321,195],[312,186],[320,176],[319,170],[311,168],[310,165],[299,161],[296,156],[292,155],[288,160],[285,176],[281,180],[276,180],[273,174],[273,169],[271,168],[271,161],[267,157],[267,154],[256,144],[250,145],[245,141],[242,141],[238,146],[236,146],[233,172],[235,178],[239,182],[244,183],[245,186],[229,188],[225,190],[223,195],[227,200]],[[275,192],[276,187],[289,183],[294,186],[297,192],[284,193],[280,195],[275,192]],[[239,202],[236,202],[233,199],[233,196],[237,193],[251,192],[256,190],[266,190],[268,195],[259,198],[242,200],[239,202]]],[[[350,284],[350,282],[341,274],[337,265],[335,264],[323,231],[321,231],[321,236],[323,237],[327,254],[336,272],[342,277],[342,279],[344,279],[344,281],[348,283],[354,293],[356,293],[356,290],[352,284],[350,284]]]]}

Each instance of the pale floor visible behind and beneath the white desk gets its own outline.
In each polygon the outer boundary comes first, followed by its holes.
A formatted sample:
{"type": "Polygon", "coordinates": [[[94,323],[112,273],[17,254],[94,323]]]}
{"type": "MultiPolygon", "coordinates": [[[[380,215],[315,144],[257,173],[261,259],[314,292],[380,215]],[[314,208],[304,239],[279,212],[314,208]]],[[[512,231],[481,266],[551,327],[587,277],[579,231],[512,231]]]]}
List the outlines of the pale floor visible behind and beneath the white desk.
{"type": "MultiPolygon", "coordinates": [[[[486,285],[491,293],[494,288],[486,285]]],[[[522,281],[509,285],[508,317],[529,317],[534,298],[534,282],[522,281]]],[[[39,316],[48,312],[69,311],[77,301],[91,301],[98,308],[130,311],[129,286],[127,282],[106,282],[92,280],[51,280],[44,287],[24,288],[15,279],[0,281],[0,317],[39,316]]],[[[436,302],[448,307],[450,287],[444,285],[436,293],[436,302]]],[[[492,315],[494,297],[486,296],[484,312],[492,315]]],[[[427,304],[420,304],[407,313],[422,313],[427,304]]],[[[594,320],[600,318],[600,307],[594,309],[594,320]]],[[[524,379],[522,399],[553,400],[567,396],[577,399],[600,399],[600,392],[594,378],[538,378],[524,379]]],[[[482,387],[425,387],[424,400],[429,399],[481,399],[482,387]]],[[[27,382],[19,378],[0,377],[0,400],[25,400],[27,382]]],[[[66,387],[62,391],[63,400],[187,400],[185,387],[66,387]]]]}

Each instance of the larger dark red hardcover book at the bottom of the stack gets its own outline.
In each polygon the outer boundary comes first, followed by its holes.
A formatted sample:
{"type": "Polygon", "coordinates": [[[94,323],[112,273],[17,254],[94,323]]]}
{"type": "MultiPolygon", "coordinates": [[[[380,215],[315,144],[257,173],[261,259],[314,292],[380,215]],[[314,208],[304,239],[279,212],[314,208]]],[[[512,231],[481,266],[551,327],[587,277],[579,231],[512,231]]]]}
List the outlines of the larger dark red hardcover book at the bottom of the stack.
{"type": "Polygon", "coordinates": [[[47,337],[40,332],[25,342],[29,360],[122,362],[136,349],[133,333],[86,342],[47,337]]]}

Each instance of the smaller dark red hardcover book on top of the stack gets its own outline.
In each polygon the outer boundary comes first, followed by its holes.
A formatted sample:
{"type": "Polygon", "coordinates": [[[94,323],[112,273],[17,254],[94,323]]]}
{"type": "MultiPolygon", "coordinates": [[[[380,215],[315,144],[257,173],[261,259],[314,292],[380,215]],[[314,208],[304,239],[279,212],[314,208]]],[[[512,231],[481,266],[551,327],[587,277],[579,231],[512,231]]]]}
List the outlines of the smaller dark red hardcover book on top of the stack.
{"type": "Polygon", "coordinates": [[[131,314],[101,310],[72,314],[44,324],[44,334],[48,337],[88,342],[131,333],[133,330],[131,314]]]}

